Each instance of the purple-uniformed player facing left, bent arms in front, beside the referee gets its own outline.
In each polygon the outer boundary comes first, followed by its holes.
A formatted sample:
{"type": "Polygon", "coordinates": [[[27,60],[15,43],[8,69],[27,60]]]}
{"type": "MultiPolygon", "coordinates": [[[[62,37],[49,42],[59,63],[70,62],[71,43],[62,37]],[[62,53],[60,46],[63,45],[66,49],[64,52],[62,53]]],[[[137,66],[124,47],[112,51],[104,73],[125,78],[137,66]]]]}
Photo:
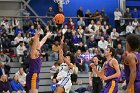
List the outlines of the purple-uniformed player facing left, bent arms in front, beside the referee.
{"type": "Polygon", "coordinates": [[[90,65],[92,70],[106,82],[105,87],[100,93],[117,93],[118,91],[118,77],[120,76],[120,69],[118,61],[114,58],[114,55],[115,49],[111,47],[107,48],[107,51],[105,51],[107,61],[104,63],[101,71],[97,71],[93,63],[90,65]]]}

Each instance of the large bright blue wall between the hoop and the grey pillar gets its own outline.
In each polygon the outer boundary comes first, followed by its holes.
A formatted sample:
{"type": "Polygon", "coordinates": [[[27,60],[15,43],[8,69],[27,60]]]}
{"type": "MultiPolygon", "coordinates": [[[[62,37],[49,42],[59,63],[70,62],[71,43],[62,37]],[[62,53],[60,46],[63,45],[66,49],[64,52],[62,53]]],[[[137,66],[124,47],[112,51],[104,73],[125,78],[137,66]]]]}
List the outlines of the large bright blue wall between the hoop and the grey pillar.
{"type": "Polygon", "coordinates": [[[84,13],[87,9],[93,13],[95,10],[104,8],[105,13],[109,16],[110,23],[114,23],[114,10],[118,7],[118,0],[70,0],[68,5],[64,5],[65,16],[76,16],[79,7],[83,7],[84,13]]]}

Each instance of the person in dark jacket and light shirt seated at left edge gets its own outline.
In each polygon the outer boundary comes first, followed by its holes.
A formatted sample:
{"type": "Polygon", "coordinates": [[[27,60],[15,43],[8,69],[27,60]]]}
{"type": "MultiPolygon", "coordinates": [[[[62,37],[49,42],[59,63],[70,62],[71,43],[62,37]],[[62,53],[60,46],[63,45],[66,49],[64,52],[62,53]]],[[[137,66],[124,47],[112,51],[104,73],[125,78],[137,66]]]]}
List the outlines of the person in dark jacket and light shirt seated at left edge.
{"type": "Polygon", "coordinates": [[[10,66],[4,64],[3,62],[0,62],[0,76],[1,75],[9,76],[9,72],[10,72],[10,66]]]}

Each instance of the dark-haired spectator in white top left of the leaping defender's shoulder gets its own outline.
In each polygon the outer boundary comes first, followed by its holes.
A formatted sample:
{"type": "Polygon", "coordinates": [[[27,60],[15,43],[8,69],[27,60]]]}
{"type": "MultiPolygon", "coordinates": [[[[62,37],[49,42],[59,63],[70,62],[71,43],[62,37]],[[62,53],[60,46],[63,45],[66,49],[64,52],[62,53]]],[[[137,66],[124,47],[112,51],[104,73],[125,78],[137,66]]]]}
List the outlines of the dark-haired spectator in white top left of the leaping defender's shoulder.
{"type": "Polygon", "coordinates": [[[23,56],[24,56],[24,51],[25,50],[27,50],[27,48],[25,47],[23,41],[20,41],[19,45],[16,48],[18,61],[20,63],[23,63],[23,56]]]}

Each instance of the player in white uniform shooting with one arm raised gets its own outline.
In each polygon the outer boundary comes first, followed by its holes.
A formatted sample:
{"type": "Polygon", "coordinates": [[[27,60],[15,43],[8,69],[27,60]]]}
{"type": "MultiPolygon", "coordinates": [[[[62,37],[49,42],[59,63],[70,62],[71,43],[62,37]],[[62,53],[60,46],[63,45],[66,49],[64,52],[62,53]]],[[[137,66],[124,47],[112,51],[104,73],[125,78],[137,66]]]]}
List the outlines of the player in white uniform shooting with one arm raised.
{"type": "Polygon", "coordinates": [[[58,80],[57,89],[55,93],[69,93],[72,83],[71,83],[71,74],[73,72],[73,64],[71,63],[71,54],[67,53],[65,57],[63,56],[63,40],[64,36],[61,40],[61,45],[59,47],[59,73],[56,77],[58,80]]]}

